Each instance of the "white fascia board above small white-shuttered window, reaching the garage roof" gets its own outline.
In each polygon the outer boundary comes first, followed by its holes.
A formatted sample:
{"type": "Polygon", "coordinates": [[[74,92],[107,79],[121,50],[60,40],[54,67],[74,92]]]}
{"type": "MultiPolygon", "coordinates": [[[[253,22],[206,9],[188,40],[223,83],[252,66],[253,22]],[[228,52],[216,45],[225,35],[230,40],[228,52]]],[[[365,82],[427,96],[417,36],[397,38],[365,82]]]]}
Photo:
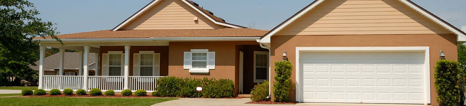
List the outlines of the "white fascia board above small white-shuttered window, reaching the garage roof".
{"type": "Polygon", "coordinates": [[[151,38],[151,40],[259,40],[260,37],[176,37],[151,38]]]}

